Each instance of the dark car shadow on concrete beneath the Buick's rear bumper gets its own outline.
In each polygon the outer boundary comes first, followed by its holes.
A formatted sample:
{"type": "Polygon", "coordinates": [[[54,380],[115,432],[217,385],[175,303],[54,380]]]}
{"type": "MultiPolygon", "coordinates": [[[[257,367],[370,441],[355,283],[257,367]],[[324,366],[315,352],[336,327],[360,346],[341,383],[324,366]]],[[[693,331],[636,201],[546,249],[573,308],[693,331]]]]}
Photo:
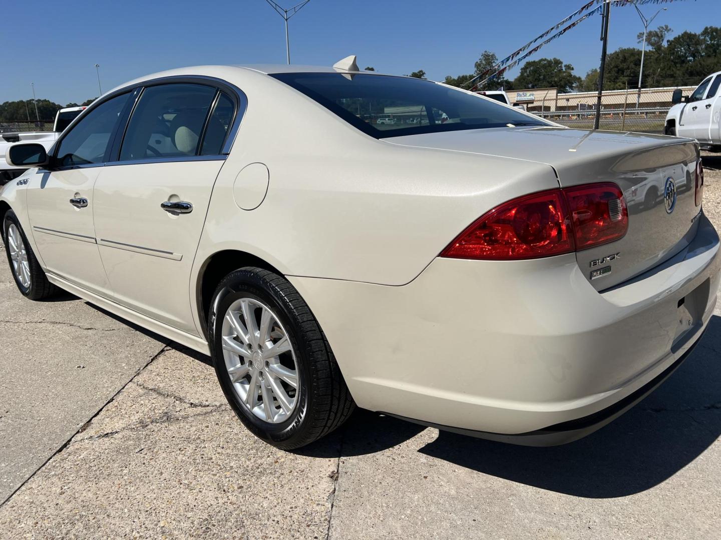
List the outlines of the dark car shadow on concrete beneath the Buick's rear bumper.
{"type": "MultiPolygon", "coordinates": [[[[337,433],[298,451],[311,456],[372,454],[423,427],[365,410],[337,433]]],[[[537,448],[441,431],[427,456],[544,490],[587,498],[642,492],[672,477],[721,435],[721,317],[689,359],[632,410],[588,437],[537,448]]]]}

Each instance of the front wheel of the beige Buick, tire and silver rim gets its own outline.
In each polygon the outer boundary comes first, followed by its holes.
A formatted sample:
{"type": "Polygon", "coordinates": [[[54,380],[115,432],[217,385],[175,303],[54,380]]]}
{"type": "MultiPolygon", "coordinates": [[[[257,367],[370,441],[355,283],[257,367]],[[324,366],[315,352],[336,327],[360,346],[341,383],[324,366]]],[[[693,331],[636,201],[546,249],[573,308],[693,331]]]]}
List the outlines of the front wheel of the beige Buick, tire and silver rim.
{"type": "Polygon", "coordinates": [[[57,292],[48,282],[45,271],[35,257],[15,212],[8,210],[2,223],[7,261],[19,291],[30,300],[43,300],[57,292]]]}

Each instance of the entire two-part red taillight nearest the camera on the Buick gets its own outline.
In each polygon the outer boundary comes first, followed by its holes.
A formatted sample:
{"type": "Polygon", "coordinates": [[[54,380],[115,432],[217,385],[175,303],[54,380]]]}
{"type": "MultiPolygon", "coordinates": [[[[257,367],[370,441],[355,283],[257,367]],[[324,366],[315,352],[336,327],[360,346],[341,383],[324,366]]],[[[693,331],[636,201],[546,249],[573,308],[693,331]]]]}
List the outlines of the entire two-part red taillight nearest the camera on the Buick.
{"type": "Polygon", "coordinates": [[[509,261],[572,253],[622,238],[628,218],[626,199],[616,184],[551,189],[494,208],[441,257],[509,261]]]}

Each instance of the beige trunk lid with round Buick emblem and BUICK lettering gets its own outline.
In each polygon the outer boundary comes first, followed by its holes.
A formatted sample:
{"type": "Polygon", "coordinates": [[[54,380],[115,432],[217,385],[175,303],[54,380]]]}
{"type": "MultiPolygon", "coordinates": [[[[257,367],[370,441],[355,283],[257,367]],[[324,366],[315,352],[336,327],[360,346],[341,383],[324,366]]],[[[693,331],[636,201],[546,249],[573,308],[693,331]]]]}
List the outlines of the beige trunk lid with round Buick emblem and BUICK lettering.
{"type": "Polygon", "coordinates": [[[629,209],[627,234],[576,253],[585,278],[599,291],[652,269],[688,246],[696,235],[701,207],[695,204],[694,173],[699,150],[691,139],[511,127],[408,135],[386,142],[547,163],[562,187],[618,184],[629,209]],[[667,209],[664,194],[669,179],[676,197],[673,204],[669,197],[667,209]],[[598,275],[600,269],[603,272],[598,275]]]}

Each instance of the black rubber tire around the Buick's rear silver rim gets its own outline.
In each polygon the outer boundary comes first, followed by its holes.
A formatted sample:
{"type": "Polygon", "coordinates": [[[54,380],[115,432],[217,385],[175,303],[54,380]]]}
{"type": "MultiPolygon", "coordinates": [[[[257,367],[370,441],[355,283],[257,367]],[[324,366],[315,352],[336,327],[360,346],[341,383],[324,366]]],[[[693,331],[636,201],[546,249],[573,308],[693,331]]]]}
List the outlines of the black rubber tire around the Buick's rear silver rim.
{"type": "Polygon", "coordinates": [[[286,279],[271,271],[246,267],[228,274],[216,288],[208,315],[211,353],[218,381],[231,408],[255,436],[279,449],[306,446],[348,419],[355,408],[335,356],[310,308],[286,279]],[[298,403],[281,423],[254,415],[236,393],[226,369],[222,322],[233,302],[251,298],[270,307],[296,355],[298,403]]]}

